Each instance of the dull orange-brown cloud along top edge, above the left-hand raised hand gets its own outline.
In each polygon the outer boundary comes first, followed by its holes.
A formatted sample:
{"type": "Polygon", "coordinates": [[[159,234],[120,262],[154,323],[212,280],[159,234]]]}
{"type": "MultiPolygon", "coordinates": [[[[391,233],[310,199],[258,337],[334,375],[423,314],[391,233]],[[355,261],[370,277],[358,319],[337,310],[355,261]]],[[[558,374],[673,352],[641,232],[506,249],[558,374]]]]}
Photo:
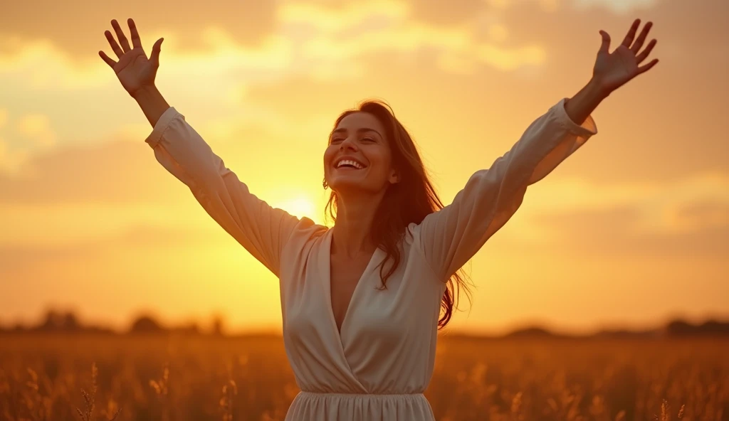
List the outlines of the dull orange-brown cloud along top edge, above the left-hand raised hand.
{"type": "MultiPolygon", "coordinates": [[[[17,1],[7,4],[3,9],[3,25],[0,28],[0,52],[15,50],[8,42],[2,41],[7,36],[15,36],[25,42],[51,42],[62,54],[74,60],[80,68],[89,67],[88,63],[101,63],[106,66],[97,51],[107,49],[104,31],[112,30],[110,21],[116,19],[128,34],[126,20],[132,17],[139,28],[142,43],[151,49],[157,38],[165,36],[165,43],[171,32],[175,34],[185,50],[206,50],[200,42],[200,34],[192,28],[205,28],[209,23],[233,34],[238,41],[253,47],[266,36],[273,33],[276,22],[274,12],[276,1],[217,1],[205,4],[204,7],[186,7],[176,13],[174,20],[164,17],[170,10],[179,9],[179,2],[172,0],[155,1],[154,4],[144,0],[126,1],[123,10],[114,4],[100,3],[88,7],[85,1],[66,1],[63,7],[51,0],[39,0],[32,3],[17,1]],[[32,16],[32,19],[28,18],[32,16]]],[[[17,46],[20,47],[20,46],[17,46]]],[[[17,51],[17,50],[16,50],[17,51]]]]}

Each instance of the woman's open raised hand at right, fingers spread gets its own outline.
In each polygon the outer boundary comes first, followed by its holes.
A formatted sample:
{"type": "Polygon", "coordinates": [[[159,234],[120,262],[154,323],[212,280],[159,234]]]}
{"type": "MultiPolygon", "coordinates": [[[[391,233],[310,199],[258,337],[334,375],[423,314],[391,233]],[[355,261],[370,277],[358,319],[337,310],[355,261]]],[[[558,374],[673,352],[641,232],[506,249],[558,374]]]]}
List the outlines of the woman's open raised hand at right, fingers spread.
{"type": "Polygon", "coordinates": [[[650,61],[650,63],[644,66],[638,66],[648,57],[650,50],[655,46],[656,40],[652,39],[647,47],[638,54],[638,51],[643,47],[648,31],[650,31],[652,22],[648,22],[643,27],[638,39],[633,42],[633,39],[640,25],[640,19],[636,19],[631,25],[630,31],[625,35],[623,44],[620,44],[615,51],[612,53],[608,52],[610,47],[610,36],[605,31],[600,31],[602,35],[602,45],[597,53],[597,60],[595,62],[595,68],[593,68],[593,79],[599,84],[599,86],[609,95],[612,91],[618,87],[623,86],[625,82],[633,79],[635,76],[650,70],[655,63],[658,63],[658,58],[650,61]],[[633,44],[631,46],[631,44],[633,44]]]}

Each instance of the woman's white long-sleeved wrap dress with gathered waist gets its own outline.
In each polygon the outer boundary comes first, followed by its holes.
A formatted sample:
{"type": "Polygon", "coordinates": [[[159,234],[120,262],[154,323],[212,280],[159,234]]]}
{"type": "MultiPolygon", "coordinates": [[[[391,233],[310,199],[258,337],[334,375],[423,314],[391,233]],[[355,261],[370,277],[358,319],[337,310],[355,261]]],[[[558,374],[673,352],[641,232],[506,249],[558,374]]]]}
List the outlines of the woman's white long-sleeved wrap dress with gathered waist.
{"type": "Polygon", "coordinates": [[[286,420],[434,420],[423,392],[433,372],[443,281],[511,218],[529,184],[597,133],[592,116],[582,125],[569,119],[565,100],[534,120],[491,168],[476,171],[451,205],[408,226],[401,263],[383,291],[376,288],[385,253],[375,251],[341,334],[330,297],[332,231],[270,207],[182,114],[164,112],[146,139],[157,161],[279,279],[284,346],[301,390],[286,420]]]}

